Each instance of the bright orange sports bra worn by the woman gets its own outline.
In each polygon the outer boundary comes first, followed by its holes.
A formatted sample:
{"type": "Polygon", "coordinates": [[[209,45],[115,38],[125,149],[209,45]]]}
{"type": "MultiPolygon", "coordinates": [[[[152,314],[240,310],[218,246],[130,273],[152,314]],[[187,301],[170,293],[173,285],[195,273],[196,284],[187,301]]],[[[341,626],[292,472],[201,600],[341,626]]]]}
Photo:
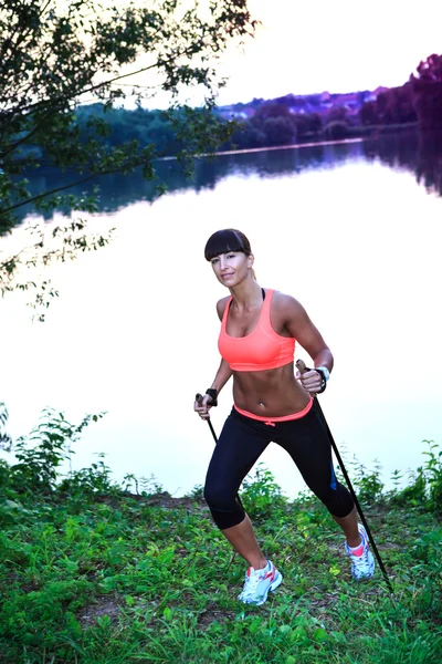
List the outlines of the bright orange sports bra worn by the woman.
{"type": "Polygon", "coordinates": [[[232,371],[264,371],[277,369],[293,362],[295,340],[281,336],[273,330],[270,321],[270,309],[273,290],[265,290],[265,299],[261,309],[257,325],[246,336],[230,336],[227,321],[232,298],[225,305],[221,322],[218,347],[221,356],[230,364],[232,371]]]}

